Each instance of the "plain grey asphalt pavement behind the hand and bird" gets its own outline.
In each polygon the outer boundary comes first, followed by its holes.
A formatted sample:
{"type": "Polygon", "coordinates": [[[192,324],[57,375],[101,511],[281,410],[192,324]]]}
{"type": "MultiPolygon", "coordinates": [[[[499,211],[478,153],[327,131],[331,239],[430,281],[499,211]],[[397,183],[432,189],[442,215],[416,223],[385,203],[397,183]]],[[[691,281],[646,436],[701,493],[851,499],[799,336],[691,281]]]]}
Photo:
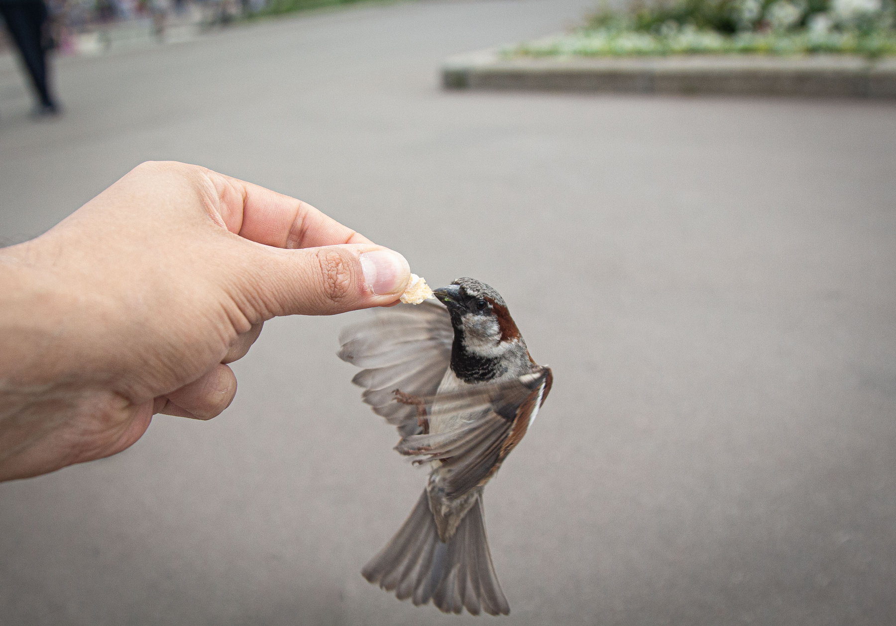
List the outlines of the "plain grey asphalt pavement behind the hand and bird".
{"type": "MultiPolygon", "coordinates": [[[[312,202],[433,284],[495,286],[554,368],[487,488],[505,622],[892,624],[896,108],[439,90],[444,56],[588,4],[367,6],[63,59],[49,124],[7,72],[0,236],[145,159],[312,202]]],[[[0,485],[0,622],[483,620],[358,573],[425,475],[334,356],[350,319],[269,322],[210,423],[157,416],[115,458],[0,485]]]]}

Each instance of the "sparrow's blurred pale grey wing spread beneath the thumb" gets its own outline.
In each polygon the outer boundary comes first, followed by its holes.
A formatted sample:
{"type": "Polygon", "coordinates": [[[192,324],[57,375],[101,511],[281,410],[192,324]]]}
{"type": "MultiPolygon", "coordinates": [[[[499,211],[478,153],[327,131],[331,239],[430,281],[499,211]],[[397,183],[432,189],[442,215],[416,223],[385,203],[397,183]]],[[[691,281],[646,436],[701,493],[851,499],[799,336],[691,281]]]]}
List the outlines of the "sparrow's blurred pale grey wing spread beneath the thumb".
{"type": "Polygon", "coordinates": [[[397,304],[372,310],[365,322],[340,333],[343,361],[364,368],[351,380],[377,415],[398,427],[401,436],[421,433],[417,407],[395,401],[393,390],[412,396],[435,395],[451,363],[454,329],[444,304],[397,304]]]}

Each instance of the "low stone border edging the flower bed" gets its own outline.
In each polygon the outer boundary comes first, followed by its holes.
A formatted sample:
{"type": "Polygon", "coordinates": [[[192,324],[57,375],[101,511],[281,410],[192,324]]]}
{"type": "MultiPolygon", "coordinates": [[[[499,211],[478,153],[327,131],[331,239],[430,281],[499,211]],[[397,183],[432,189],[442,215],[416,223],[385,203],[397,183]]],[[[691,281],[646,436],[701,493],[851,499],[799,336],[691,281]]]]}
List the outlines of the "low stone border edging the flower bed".
{"type": "Polygon", "coordinates": [[[896,98],[896,57],[690,55],[448,58],[445,89],[896,98]]]}

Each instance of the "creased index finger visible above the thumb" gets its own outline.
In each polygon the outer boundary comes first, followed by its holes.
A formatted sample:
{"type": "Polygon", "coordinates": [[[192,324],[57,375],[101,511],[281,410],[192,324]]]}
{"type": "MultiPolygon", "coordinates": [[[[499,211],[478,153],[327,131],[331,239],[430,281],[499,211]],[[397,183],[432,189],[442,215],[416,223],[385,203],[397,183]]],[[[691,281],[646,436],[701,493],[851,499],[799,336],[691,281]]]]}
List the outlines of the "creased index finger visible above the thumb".
{"type": "Polygon", "coordinates": [[[231,233],[278,248],[373,243],[307,202],[211,170],[207,176],[231,233]]]}

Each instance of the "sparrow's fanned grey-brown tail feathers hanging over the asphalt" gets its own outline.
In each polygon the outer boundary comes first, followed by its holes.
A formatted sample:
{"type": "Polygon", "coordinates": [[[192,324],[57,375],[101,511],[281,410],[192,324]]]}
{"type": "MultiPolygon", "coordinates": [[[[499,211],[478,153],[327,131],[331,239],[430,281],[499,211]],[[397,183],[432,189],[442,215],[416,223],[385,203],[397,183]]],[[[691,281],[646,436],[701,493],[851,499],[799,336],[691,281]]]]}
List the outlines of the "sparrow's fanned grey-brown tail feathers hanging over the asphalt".
{"type": "Polygon", "coordinates": [[[491,615],[510,613],[488,551],[481,493],[454,536],[443,543],[424,490],[392,541],[361,574],[400,600],[412,598],[414,605],[432,599],[444,613],[461,613],[463,607],[473,615],[480,608],[491,615]]]}

